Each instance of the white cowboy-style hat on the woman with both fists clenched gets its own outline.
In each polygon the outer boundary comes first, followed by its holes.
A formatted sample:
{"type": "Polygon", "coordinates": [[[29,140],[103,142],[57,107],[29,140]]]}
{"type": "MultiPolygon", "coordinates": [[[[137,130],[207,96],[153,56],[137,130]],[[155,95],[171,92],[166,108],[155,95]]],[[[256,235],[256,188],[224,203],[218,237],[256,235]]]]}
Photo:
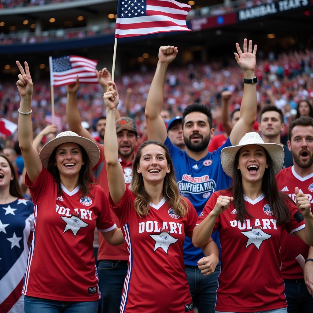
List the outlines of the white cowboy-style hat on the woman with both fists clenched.
{"type": "Polygon", "coordinates": [[[277,143],[264,143],[263,139],[258,133],[251,132],[246,133],[237,146],[225,147],[221,151],[221,163],[224,172],[229,176],[233,177],[233,170],[237,166],[234,165],[236,153],[241,147],[247,145],[258,145],[263,147],[272,159],[275,175],[278,174],[283,167],[285,152],[284,148],[277,143]]]}

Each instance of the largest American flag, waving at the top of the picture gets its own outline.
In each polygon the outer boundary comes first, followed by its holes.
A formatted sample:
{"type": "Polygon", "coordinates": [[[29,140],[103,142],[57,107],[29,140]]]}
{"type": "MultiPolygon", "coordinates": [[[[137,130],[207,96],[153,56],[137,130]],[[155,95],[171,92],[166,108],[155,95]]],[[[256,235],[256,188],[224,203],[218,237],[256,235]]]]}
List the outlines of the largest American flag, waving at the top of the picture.
{"type": "Polygon", "coordinates": [[[175,0],[119,0],[115,38],[173,31],[190,31],[191,6],[175,0]]]}

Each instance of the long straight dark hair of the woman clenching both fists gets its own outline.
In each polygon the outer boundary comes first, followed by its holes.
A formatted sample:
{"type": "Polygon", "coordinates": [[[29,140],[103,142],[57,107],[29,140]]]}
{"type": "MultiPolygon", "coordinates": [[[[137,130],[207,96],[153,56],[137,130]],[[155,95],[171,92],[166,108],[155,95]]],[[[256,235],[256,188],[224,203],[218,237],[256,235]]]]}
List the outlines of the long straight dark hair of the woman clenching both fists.
{"type": "MultiPolygon", "coordinates": [[[[233,165],[233,184],[231,187],[228,188],[228,190],[231,190],[233,192],[233,195],[235,195],[233,205],[237,210],[237,220],[244,222],[247,216],[249,216],[250,218],[253,218],[253,216],[248,213],[244,205],[244,189],[242,186],[242,177],[240,170],[237,169],[240,150],[235,156],[235,161],[233,165]]],[[[264,194],[264,198],[269,202],[271,210],[276,217],[277,223],[288,223],[290,221],[290,211],[287,203],[288,201],[293,201],[285,193],[278,191],[272,159],[266,149],[264,149],[264,151],[266,155],[266,162],[269,167],[265,168],[262,178],[262,192],[264,194]]]]}

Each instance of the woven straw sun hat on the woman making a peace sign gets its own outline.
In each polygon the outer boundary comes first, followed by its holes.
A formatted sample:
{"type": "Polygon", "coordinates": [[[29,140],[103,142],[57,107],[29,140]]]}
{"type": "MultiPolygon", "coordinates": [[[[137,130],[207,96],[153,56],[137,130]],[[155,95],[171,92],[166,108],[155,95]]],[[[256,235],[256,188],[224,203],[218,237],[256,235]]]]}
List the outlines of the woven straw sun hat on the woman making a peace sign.
{"type": "Polygon", "coordinates": [[[100,150],[92,140],[78,136],[73,131],[63,131],[59,133],[54,139],[46,143],[39,152],[41,162],[45,168],[48,167],[49,158],[53,150],[57,146],[66,142],[74,142],[82,146],[89,157],[91,167],[94,167],[98,163],[100,158],[100,150]]]}

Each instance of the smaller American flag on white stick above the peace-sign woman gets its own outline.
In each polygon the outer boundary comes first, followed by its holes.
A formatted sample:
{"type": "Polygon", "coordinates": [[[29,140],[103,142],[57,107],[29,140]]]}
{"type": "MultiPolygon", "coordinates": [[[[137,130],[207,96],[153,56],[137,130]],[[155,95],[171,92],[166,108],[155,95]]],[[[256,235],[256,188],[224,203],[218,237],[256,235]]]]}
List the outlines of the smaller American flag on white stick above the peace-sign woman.
{"type": "Polygon", "coordinates": [[[60,58],[49,57],[51,85],[62,86],[74,83],[76,76],[80,83],[98,83],[95,73],[97,60],[86,59],[76,55],[60,58]]]}

